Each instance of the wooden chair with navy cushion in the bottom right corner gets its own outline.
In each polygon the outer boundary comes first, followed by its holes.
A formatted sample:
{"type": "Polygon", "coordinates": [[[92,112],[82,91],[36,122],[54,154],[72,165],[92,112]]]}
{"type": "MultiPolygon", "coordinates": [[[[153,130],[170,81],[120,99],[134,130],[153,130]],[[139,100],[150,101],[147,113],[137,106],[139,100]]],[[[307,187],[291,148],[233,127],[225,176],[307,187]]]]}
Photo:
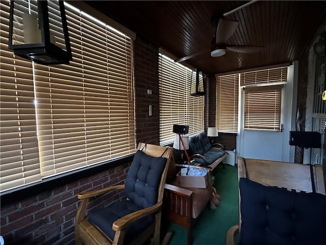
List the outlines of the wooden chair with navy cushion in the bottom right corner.
{"type": "Polygon", "coordinates": [[[240,228],[241,244],[326,241],[326,196],[321,165],[241,157],[237,160],[240,217],[239,225],[228,230],[228,245],[234,245],[234,236],[240,228]],[[313,189],[316,193],[306,193],[313,189]]]}

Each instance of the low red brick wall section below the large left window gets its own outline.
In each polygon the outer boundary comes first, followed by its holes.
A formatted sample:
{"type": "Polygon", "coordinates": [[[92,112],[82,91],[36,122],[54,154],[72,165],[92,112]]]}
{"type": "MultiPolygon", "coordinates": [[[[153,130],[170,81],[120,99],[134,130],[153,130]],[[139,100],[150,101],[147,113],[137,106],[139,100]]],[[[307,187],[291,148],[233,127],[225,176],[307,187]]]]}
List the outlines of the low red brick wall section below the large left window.
{"type": "MultiPolygon", "coordinates": [[[[120,165],[2,207],[1,235],[5,244],[75,244],[77,194],[123,184],[128,169],[129,164],[120,165]]],[[[109,193],[91,201],[89,207],[101,207],[103,201],[112,203],[123,195],[109,193]]]]}

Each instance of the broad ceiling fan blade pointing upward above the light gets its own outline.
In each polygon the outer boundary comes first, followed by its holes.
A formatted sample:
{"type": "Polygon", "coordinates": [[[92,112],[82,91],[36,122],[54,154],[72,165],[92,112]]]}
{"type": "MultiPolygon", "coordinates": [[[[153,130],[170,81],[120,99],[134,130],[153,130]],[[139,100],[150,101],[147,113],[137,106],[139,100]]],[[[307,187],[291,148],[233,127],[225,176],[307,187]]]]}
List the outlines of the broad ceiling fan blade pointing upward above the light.
{"type": "Polygon", "coordinates": [[[216,44],[226,43],[226,41],[232,36],[235,32],[235,29],[238,26],[237,20],[230,19],[219,19],[218,27],[216,28],[216,44]]]}

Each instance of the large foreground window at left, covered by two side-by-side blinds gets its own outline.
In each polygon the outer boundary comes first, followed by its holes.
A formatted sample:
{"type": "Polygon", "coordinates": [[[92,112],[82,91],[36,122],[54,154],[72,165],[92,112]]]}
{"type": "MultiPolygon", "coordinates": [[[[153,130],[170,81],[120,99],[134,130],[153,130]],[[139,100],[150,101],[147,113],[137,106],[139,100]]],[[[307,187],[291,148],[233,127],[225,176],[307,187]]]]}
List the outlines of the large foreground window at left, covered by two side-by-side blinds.
{"type": "Polygon", "coordinates": [[[66,4],[73,61],[8,50],[1,2],[1,191],[135,151],[132,39],[66,4]]]}

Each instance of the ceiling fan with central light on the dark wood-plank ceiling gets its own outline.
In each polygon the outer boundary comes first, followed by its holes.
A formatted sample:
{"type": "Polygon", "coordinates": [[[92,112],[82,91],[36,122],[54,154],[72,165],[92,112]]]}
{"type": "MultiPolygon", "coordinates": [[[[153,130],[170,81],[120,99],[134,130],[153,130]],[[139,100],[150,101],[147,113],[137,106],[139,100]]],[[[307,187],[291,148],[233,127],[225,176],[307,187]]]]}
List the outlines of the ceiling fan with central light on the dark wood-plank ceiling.
{"type": "MultiPolygon", "coordinates": [[[[227,16],[235,11],[238,11],[239,9],[247,7],[257,1],[258,0],[250,1],[247,4],[241,5],[240,7],[223,14],[223,16],[225,17],[225,16],[227,16]]],[[[257,45],[227,44],[226,43],[227,40],[235,32],[237,26],[238,26],[237,20],[229,20],[229,19],[225,19],[223,17],[218,19],[216,32],[214,34],[211,46],[209,48],[205,48],[205,50],[202,50],[198,53],[188,55],[188,56],[182,57],[180,59],[176,59],[175,62],[179,63],[179,62],[191,59],[195,56],[205,54],[208,52],[210,52],[211,57],[220,57],[220,56],[225,55],[227,51],[238,52],[238,53],[254,53],[254,52],[260,51],[263,48],[263,46],[257,46],[257,45]]]]}

